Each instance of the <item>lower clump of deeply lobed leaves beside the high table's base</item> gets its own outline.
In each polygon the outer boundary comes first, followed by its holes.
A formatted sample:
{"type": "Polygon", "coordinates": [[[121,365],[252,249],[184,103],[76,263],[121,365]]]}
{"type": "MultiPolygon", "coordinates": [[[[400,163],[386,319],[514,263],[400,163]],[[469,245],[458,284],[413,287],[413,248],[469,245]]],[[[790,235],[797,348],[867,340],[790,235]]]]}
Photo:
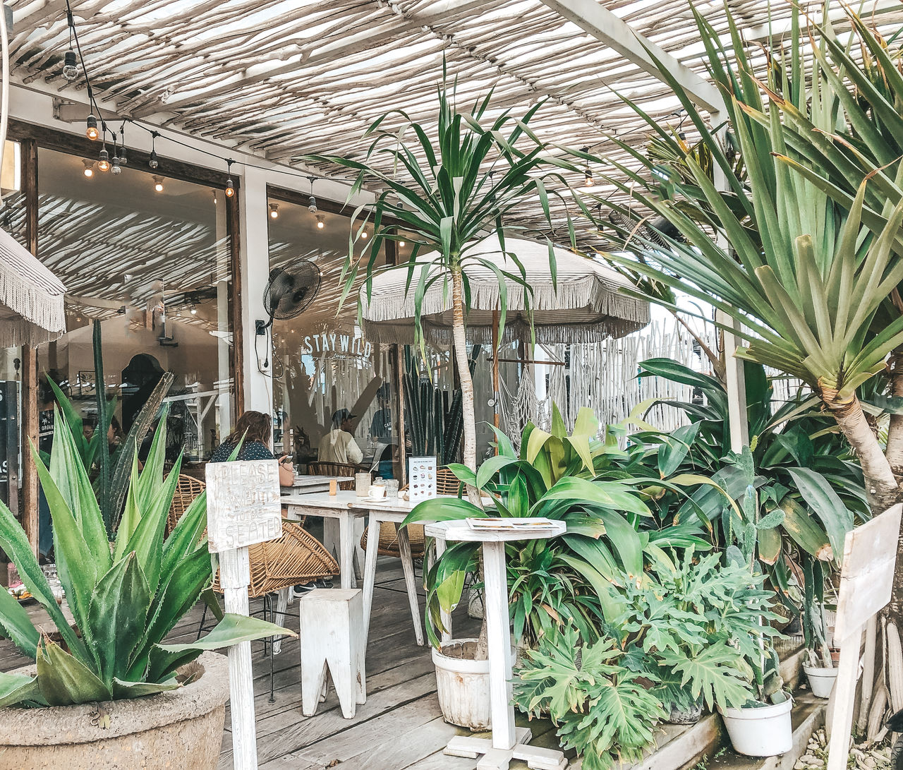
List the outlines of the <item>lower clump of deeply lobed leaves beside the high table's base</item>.
{"type": "MultiPolygon", "coordinates": [[[[573,627],[554,630],[517,667],[514,700],[531,717],[547,712],[564,749],[586,770],[639,759],[665,711],[613,639],[582,643],[573,627]]],[[[644,674],[643,678],[648,678],[644,674]]]]}

